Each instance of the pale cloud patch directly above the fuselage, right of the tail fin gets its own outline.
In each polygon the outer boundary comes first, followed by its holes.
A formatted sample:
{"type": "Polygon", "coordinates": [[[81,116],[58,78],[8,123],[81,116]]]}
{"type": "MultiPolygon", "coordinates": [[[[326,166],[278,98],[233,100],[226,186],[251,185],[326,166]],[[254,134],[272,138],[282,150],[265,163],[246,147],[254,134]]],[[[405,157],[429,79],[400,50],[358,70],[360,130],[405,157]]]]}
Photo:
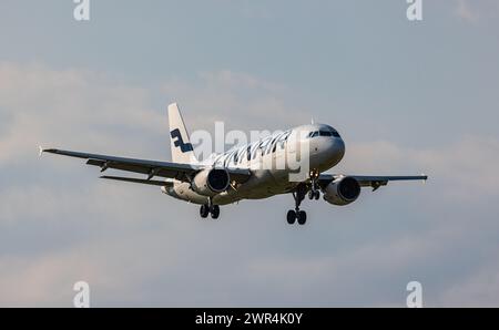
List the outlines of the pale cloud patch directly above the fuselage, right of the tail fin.
{"type": "Polygon", "coordinates": [[[234,128],[272,130],[309,120],[304,109],[286,102],[289,89],[245,73],[202,72],[194,82],[166,82],[163,91],[181,102],[186,115],[203,113],[192,122],[194,128],[224,121],[234,128]]]}

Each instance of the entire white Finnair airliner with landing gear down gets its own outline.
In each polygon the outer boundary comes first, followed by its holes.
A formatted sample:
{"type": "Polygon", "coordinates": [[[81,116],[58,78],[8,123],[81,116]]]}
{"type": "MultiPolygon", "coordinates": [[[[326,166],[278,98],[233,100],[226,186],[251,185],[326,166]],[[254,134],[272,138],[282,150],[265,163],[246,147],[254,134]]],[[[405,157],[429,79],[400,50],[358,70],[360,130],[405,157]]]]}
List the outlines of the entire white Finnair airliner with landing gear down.
{"type": "MultiPolygon", "coordinates": [[[[172,162],[125,158],[108,155],[71,152],[40,147],[42,153],[86,159],[88,165],[99,166],[101,173],[109,168],[145,175],[145,177],[101,176],[110,181],[144,184],[161,187],[174,198],[201,205],[200,216],[213,219],[220,216],[220,206],[243,199],[263,199],[279,194],[292,194],[295,207],[289,209],[286,220],[305,225],[307,214],[301,204],[308,195],[344,206],[355,202],[361,187],[373,192],[389,182],[424,181],[426,175],[415,176],[366,176],[325,173],[336,166],[345,155],[345,143],[338,131],[326,124],[297,126],[277,132],[259,141],[234,147],[222,154],[213,154],[200,162],[190,142],[190,135],[176,103],[167,106],[172,162]],[[308,147],[309,172],[302,181],[291,179],[297,168],[289,165],[277,168],[258,167],[255,164],[289,158],[298,149],[308,147]],[[154,179],[154,178],[162,179],[154,179]]],[[[286,162],[282,162],[287,164],[286,162]]],[[[268,163],[267,163],[268,164],[268,163]]],[[[299,168],[298,168],[299,169],[299,168]]]]}

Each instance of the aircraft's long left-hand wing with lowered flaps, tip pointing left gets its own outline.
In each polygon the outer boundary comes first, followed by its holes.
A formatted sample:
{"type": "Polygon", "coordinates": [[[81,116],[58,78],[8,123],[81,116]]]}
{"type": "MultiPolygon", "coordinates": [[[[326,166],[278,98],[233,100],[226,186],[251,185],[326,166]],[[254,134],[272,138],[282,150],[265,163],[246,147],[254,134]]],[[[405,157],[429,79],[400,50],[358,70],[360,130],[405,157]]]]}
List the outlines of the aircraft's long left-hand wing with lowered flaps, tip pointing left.
{"type": "MultiPolygon", "coordinates": [[[[62,156],[83,158],[86,159],[86,165],[94,165],[101,167],[101,172],[104,172],[108,168],[114,168],[119,171],[145,174],[147,176],[146,181],[151,181],[153,177],[159,176],[166,178],[175,178],[182,182],[190,182],[190,179],[197,172],[206,167],[205,165],[197,165],[197,164],[180,164],[170,162],[135,159],[108,155],[88,154],[80,152],[70,152],[55,148],[48,148],[48,149],[40,148],[40,154],[41,153],[50,153],[62,156]]],[[[236,181],[237,183],[244,183],[251,176],[251,172],[248,169],[244,168],[226,168],[226,169],[231,175],[231,179],[236,181]]],[[[115,177],[104,177],[104,178],[116,179],[115,177]]],[[[144,183],[141,179],[133,182],[144,183]]],[[[154,184],[154,182],[152,184],[154,184]]]]}

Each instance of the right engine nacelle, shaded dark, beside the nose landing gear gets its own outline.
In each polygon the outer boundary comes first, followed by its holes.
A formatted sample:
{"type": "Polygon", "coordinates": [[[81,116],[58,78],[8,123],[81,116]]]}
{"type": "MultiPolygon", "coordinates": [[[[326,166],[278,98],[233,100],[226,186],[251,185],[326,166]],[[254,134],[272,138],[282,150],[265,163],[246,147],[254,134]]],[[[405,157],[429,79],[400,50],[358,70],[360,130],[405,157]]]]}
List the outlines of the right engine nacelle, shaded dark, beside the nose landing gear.
{"type": "Polygon", "coordinates": [[[353,177],[338,177],[323,189],[324,200],[333,205],[348,205],[360,195],[360,184],[353,177]]]}

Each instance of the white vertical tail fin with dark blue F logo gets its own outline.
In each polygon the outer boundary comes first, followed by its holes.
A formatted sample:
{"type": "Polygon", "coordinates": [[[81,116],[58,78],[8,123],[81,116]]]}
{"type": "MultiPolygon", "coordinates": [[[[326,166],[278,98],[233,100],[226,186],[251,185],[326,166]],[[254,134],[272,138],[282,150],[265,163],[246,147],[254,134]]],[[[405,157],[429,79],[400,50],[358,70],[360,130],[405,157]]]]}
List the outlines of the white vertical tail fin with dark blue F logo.
{"type": "Polygon", "coordinates": [[[169,105],[169,123],[172,148],[172,161],[175,163],[195,164],[194,155],[184,120],[176,103],[169,105]]]}

